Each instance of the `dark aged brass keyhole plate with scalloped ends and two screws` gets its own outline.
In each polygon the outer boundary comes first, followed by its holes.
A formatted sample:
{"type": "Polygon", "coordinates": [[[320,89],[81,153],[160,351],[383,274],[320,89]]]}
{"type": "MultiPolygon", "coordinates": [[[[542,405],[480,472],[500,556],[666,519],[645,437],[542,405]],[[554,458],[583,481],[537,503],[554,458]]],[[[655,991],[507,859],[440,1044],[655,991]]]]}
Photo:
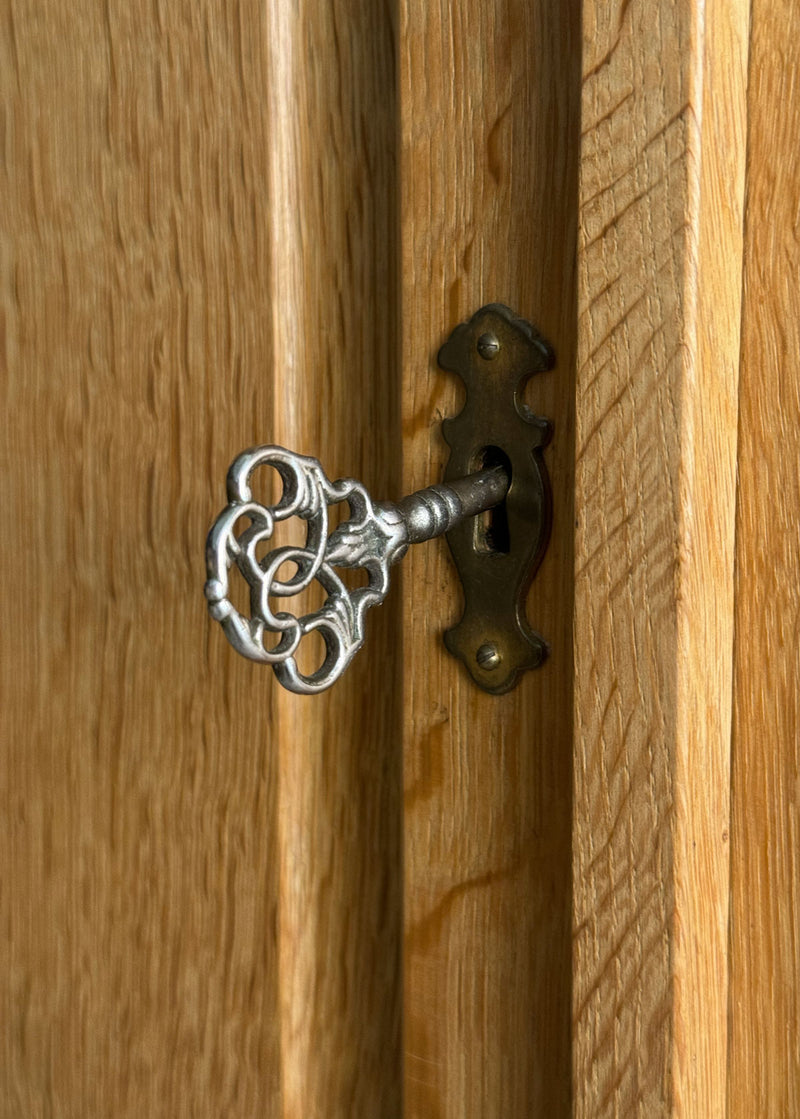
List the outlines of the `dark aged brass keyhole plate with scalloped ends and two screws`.
{"type": "Polygon", "coordinates": [[[467,403],[442,425],[451,454],[450,481],[501,463],[510,471],[505,501],[448,533],[461,576],[464,612],[444,634],[474,681],[499,695],[520,673],[536,668],[547,645],[528,624],[525,596],[544,556],[550,532],[550,491],[543,448],[550,423],[521,403],[535,373],[555,357],[535,327],[501,303],[490,303],[458,326],[439,352],[443,369],[467,386],[467,403]]]}

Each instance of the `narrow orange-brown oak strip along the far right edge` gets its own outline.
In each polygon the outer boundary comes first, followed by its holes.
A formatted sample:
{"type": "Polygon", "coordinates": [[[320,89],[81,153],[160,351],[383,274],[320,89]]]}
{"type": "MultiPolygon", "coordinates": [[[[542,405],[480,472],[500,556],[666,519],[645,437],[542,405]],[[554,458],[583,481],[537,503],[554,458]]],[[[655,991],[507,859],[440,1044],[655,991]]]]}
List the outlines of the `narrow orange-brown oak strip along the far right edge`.
{"type": "Polygon", "coordinates": [[[800,8],[754,0],[740,377],[730,1115],[800,1113],[800,8]]]}

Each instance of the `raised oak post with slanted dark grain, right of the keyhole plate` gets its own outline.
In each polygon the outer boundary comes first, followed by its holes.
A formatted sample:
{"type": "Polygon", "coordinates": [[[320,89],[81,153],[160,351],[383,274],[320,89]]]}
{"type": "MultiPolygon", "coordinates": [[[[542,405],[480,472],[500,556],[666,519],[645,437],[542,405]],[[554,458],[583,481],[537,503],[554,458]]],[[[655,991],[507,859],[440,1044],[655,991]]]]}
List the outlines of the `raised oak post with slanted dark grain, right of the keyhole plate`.
{"type": "Polygon", "coordinates": [[[717,1116],[747,6],[583,15],[575,1112],[717,1116]]]}

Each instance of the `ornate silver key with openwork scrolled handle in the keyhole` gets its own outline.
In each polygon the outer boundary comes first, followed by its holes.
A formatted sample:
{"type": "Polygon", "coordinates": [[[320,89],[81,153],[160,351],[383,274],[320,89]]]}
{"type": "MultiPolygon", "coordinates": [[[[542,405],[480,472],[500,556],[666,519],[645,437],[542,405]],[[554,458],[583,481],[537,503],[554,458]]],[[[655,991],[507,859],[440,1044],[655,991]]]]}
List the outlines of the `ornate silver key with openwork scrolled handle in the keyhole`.
{"type": "Polygon", "coordinates": [[[228,504],[208,534],[205,592],[209,613],[238,652],[272,665],[285,688],[302,695],[323,692],[339,679],[364,643],[365,614],[386,598],[389,567],[408,545],[440,536],[465,517],[491,508],[502,500],[508,486],[506,471],[492,467],[431,486],[396,505],[374,502],[352,478],[331,481],[317,459],[282,446],[252,448],[233,462],[228,504]],[[282,492],[274,505],[253,498],[252,476],[264,466],[273,467],[281,478],[282,492]],[[328,510],[341,501],[347,501],[349,517],[329,534],[328,510]],[[290,517],[305,521],[304,545],[277,547],[262,556],[275,525],[290,517]],[[234,565],[250,586],[250,617],[239,613],[229,598],[234,565]],[[293,571],[282,574],[282,568],[292,565],[293,571]],[[337,567],[363,567],[366,586],[348,587],[337,567]],[[327,594],[319,610],[298,618],[276,609],[277,602],[300,594],[314,581],[327,594]],[[307,676],[298,668],[295,653],[311,631],[323,638],[326,656],[307,676]]]}

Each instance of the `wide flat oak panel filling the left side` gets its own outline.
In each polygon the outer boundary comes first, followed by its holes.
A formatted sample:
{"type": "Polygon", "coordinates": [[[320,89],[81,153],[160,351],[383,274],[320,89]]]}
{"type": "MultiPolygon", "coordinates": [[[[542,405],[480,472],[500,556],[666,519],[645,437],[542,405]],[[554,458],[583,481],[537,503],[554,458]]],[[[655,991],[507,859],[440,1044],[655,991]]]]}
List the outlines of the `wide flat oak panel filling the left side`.
{"type": "Polygon", "coordinates": [[[237,15],[3,22],[3,1116],[279,1100],[269,688],[198,594],[218,443],[270,415],[237,15]]]}

